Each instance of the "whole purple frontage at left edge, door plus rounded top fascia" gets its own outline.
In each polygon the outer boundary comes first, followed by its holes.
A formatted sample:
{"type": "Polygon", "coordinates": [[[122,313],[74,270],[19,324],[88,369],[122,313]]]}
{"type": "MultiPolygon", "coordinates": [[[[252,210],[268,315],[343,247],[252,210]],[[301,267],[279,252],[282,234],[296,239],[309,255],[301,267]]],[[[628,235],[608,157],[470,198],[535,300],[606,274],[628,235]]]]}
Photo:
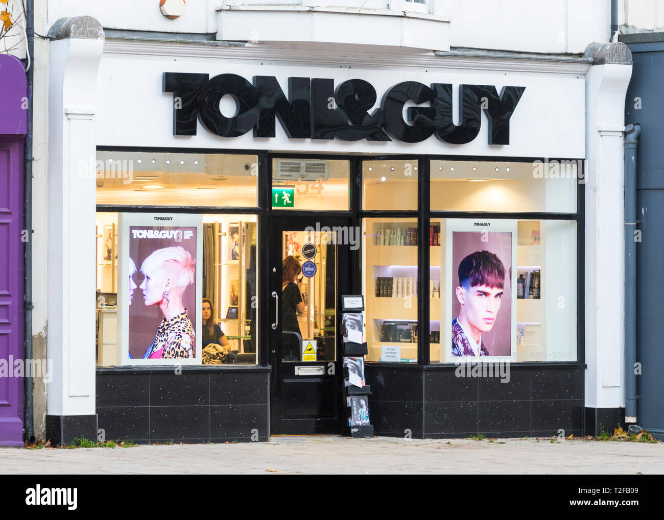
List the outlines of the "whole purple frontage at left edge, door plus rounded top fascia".
{"type": "Polygon", "coordinates": [[[23,64],[0,54],[0,446],[23,444],[23,64]],[[15,375],[19,377],[14,377],[15,375]]]}

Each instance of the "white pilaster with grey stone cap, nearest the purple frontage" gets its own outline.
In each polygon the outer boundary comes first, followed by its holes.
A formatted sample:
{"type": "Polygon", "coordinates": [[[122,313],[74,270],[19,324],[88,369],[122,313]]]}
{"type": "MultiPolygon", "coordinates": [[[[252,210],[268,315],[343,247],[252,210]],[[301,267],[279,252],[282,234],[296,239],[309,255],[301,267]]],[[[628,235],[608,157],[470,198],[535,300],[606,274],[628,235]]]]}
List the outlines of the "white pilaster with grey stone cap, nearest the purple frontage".
{"type": "Polygon", "coordinates": [[[95,414],[93,133],[104,32],[94,18],[52,29],[48,79],[47,415],[95,414]]]}

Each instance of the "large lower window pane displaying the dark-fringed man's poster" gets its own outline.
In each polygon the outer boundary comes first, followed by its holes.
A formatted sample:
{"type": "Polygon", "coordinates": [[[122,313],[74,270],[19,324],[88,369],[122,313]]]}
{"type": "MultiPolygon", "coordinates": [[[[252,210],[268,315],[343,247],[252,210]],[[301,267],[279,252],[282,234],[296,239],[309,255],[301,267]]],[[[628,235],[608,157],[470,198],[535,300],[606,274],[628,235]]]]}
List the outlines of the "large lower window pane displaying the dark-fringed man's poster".
{"type": "Polygon", "coordinates": [[[576,227],[432,219],[431,362],[576,361],[576,227]]]}

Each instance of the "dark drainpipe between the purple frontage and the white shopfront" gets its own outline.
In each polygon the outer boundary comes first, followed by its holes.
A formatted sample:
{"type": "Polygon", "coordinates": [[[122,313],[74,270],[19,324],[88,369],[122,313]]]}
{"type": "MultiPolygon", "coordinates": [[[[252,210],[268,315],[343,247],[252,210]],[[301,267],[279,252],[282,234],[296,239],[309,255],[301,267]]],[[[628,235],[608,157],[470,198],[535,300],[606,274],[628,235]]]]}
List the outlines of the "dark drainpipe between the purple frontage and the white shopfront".
{"type": "MultiPolygon", "coordinates": [[[[27,52],[30,56],[31,66],[27,73],[28,80],[28,127],[25,136],[25,227],[28,239],[23,245],[23,267],[25,269],[25,283],[23,286],[23,312],[25,323],[23,328],[23,350],[25,360],[33,359],[33,80],[35,78],[35,1],[27,0],[25,6],[25,19],[28,37],[27,52]]],[[[26,373],[25,400],[24,400],[25,439],[29,443],[35,442],[35,423],[33,417],[33,377],[26,373]]]]}

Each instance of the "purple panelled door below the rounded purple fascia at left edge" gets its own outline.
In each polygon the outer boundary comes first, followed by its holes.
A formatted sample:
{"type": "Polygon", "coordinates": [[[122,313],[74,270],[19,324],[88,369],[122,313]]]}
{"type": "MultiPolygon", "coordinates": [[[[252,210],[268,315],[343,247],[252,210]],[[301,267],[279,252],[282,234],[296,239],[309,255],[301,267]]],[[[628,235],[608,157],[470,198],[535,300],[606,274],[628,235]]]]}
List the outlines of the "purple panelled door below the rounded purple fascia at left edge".
{"type": "Polygon", "coordinates": [[[22,223],[23,140],[0,137],[0,446],[23,444],[22,223]]]}

